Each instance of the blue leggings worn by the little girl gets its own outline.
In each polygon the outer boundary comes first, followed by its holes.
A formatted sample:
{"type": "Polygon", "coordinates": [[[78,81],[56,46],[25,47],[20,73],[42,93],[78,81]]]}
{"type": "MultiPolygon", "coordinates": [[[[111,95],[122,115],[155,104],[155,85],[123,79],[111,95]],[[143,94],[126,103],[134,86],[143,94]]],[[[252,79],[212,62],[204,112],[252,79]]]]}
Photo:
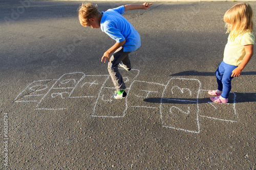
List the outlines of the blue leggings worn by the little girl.
{"type": "Polygon", "coordinates": [[[224,61],[222,61],[215,72],[217,77],[218,90],[222,91],[222,98],[228,98],[228,94],[231,90],[231,80],[233,79],[233,77],[231,77],[232,71],[237,67],[238,66],[236,65],[226,64],[224,61]]]}

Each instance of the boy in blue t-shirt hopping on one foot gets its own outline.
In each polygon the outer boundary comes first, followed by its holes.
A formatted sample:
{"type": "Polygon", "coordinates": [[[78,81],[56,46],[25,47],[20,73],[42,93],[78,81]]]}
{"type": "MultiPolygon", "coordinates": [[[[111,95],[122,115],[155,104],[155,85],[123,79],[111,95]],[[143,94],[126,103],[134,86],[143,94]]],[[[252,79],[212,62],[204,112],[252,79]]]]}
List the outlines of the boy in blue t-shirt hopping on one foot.
{"type": "Polygon", "coordinates": [[[104,61],[105,63],[106,59],[109,61],[108,70],[116,88],[113,94],[115,99],[122,99],[127,95],[124,91],[126,87],[118,66],[130,71],[131,62],[129,53],[140,47],[139,33],[121,14],[127,10],[146,10],[151,5],[152,3],[130,4],[109,9],[101,13],[98,11],[97,5],[93,5],[92,3],[82,3],[79,7],[79,21],[83,27],[101,28],[101,31],[116,40],[116,43],[101,58],[101,62],[104,61]],[[113,55],[111,56],[112,53],[113,55]]]}

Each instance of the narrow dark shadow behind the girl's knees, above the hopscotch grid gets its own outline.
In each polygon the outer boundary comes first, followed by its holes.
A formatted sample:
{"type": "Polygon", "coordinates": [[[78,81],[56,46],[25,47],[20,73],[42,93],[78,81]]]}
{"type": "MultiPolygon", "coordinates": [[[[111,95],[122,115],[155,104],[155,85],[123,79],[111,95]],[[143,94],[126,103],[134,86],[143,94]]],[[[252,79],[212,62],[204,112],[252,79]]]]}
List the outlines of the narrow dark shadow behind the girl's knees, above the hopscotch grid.
{"type": "MultiPolygon", "coordinates": [[[[243,75],[256,75],[256,71],[245,71],[245,72],[242,72],[241,76],[243,75]]],[[[190,70],[190,71],[178,72],[170,76],[215,76],[215,72],[200,72],[200,71],[190,70]]]]}

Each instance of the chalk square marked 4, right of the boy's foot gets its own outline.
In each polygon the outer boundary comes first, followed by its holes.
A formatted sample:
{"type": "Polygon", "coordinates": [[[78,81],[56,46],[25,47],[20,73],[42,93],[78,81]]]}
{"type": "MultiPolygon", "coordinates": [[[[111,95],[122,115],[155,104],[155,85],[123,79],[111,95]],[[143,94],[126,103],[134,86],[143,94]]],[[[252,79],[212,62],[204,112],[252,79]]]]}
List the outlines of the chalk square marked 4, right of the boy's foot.
{"type": "Polygon", "coordinates": [[[134,81],[127,97],[128,106],[158,109],[164,87],[159,83],[134,81]]]}

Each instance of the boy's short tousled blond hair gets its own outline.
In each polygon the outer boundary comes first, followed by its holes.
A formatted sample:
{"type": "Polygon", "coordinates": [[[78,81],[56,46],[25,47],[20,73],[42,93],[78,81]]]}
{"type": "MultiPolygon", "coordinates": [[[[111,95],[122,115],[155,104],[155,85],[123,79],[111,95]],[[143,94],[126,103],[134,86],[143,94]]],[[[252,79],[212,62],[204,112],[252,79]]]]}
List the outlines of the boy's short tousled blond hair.
{"type": "Polygon", "coordinates": [[[90,26],[90,18],[97,17],[100,12],[97,9],[97,5],[92,3],[83,2],[78,9],[79,21],[83,27],[90,26]]]}

